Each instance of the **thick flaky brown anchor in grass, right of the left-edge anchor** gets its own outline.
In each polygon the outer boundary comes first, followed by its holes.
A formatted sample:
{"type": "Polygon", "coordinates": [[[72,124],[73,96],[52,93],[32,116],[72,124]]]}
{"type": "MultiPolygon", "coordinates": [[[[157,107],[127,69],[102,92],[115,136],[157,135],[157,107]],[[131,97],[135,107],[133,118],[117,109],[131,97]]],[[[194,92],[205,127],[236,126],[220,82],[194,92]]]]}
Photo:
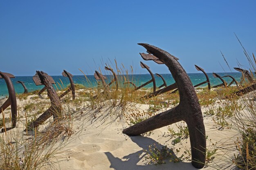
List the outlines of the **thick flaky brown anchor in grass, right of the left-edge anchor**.
{"type": "MultiPolygon", "coordinates": [[[[40,124],[45,122],[45,120],[47,120],[51,116],[53,116],[54,122],[62,117],[62,115],[61,115],[61,111],[62,111],[61,100],[58,98],[58,95],[57,95],[54,87],[52,86],[52,80],[50,77],[51,76],[49,76],[48,74],[46,74],[45,72],[42,72],[42,71],[36,71],[36,76],[33,77],[33,80],[36,84],[45,85],[45,88],[47,89],[47,94],[51,100],[51,106],[42,115],[40,115],[36,120],[31,122],[27,126],[27,129],[32,129],[32,128],[39,126],[40,124]]],[[[26,131],[26,129],[24,131],[26,131]]]]}

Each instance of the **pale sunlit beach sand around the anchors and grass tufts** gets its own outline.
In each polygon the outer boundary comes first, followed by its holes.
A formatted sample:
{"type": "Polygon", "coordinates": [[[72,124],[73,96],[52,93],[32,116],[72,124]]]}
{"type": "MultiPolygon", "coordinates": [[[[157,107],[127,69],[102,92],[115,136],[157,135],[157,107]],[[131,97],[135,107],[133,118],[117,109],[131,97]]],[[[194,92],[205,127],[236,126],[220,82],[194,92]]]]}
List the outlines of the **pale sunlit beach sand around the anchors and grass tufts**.
{"type": "MultiPolygon", "coordinates": [[[[76,93],[82,94],[85,91],[86,90],[80,89],[77,90],[76,93]]],[[[201,89],[197,90],[197,92],[201,91],[201,89]]],[[[214,92],[214,90],[211,91],[214,92]]],[[[17,102],[20,119],[15,129],[7,131],[7,136],[8,134],[14,133],[26,139],[35,137],[35,133],[31,133],[31,131],[28,135],[26,132],[22,132],[26,126],[25,114],[28,117],[28,114],[38,113],[39,105],[44,105],[44,109],[49,107],[49,99],[47,99],[46,92],[44,92],[43,97],[45,99],[40,99],[37,95],[26,96],[26,99],[18,97],[17,102]],[[29,108],[28,105],[32,108],[29,108]]],[[[220,101],[221,100],[216,100],[215,104],[212,106],[218,108],[220,101]]],[[[150,131],[141,136],[129,137],[122,133],[125,128],[130,126],[129,116],[134,113],[151,113],[150,107],[152,107],[152,105],[130,103],[125,111],[121,111],[121,107],[118,103],[113,107],[107,105],[106,103],[108,102],[106,101],[103,102],[104,104],[100,109],[92,109],[90,108],[90,103],[81,100],[81,97],[76,100],[67,97],[63,99],[62,102],[64,112],[72,111],[72,129],[70,129],[72,135],[68,137],[67,142],[65,142],[63,146],[61,146],[63,140],[56,140],[53,147],[59,148],[59,150],[55,153],[54,157],[49,159],[49,162],[56,163],[51,166],[44,165],[41,168],[49,169],[49,167],[51,167],[61,170],[196,169],[192,166],[190,160],[189,136],[185,136],[184,134],[173,135],[170,132],[170,129],[178,132],[180,130],[178,127],[186,127],[184,122],[177,122],[176,124],[150,131]],[[175,143],[174,140],[177,139],[177,137],[180,137],[180,140],[175,143]],[[174,151],[174,157],[163,160],[164,163],[162,164],[155,165],[150,159],[146,159],[149,146],[154,145],[159,149],[167,146],[167,148],[174,151]],[[179,150],[178,152],[177,149],[179,150]],[[184,152],[186,152],[186,154],[184,152]],[[182,155],[184,155],[184,157],[182,157],[182,155]],[[174,163],[173,161],[178,157],[180,161],[174,163]]],[[[153,114],[156,115],[172,107],[174,107],[174,105],[159,109],[153,114]]],[[[202,106],[207,135],[207,148],[211,152],[216,149],[216,152],[211,155],[210,160],[207,160],[204,169],[229,169],[234,167],[230,160],[232,155],[237,153],[234,140],[238,133],[233,128],[227,128],[229,126],[222,128],[220,125],[216,124],[213,121],[213,118],[216,117],[205,113],[209,108],[208,106],[202,106]]],[[[5,117],[8,117],[9,111],[7,110],[4,113],[6,115],[5,117]]],[[[45,128],[47,129],[52,121],[52,118],[47,120],[44,125],[41,125],[39,129],[37,129],[38,132],[45,131],[45,128]]],[[[5,136],[4,133],[2,133],[2,135],[5,136]]]]}

